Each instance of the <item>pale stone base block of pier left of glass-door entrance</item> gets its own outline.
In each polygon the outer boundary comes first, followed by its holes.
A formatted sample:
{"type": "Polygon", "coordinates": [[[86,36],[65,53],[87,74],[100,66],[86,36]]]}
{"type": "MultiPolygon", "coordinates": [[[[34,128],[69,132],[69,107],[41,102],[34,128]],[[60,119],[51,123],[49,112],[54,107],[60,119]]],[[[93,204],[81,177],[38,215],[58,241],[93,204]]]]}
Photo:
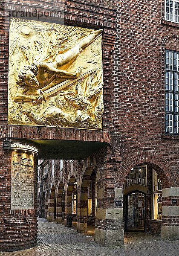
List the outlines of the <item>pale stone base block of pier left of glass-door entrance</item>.
{"type": "Polygon", "coordinates": [[[124,230],[101,230],[95,228],[95,241],[104,247],[124,245],[124,230]]]}

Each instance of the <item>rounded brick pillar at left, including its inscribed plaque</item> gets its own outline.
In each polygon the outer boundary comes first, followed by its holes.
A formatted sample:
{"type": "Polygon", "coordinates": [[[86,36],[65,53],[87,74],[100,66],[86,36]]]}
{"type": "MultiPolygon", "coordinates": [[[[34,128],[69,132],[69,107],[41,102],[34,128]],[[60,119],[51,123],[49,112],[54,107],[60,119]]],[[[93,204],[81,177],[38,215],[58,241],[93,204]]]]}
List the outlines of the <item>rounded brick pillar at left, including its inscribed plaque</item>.
{"type": "Polygon", "coordinates": [[[0,251],[37,245],[37,160],[0,141],[0,251]]]}

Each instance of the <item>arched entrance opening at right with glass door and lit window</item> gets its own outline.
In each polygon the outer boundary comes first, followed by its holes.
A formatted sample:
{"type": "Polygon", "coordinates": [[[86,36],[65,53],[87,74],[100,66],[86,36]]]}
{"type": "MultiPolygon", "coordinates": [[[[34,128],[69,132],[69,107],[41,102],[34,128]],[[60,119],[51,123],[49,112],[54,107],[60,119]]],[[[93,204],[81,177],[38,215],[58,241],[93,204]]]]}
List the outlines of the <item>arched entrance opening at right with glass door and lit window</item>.
{"type": "Polygon", "coordinates": [[[161,236],[162,185],[166,186],[166,176],[153,163],[141,163],[127,173],[123,187],[124,231],[161,236]]]}

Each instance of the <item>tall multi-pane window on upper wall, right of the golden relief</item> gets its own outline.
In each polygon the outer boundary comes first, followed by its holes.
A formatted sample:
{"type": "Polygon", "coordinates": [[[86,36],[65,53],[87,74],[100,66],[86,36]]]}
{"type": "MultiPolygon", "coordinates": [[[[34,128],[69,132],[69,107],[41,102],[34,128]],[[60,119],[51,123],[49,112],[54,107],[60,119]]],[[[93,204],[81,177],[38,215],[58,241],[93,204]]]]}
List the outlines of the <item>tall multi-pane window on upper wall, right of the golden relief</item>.
{"type": "Polygon", "coordinates": [[[179,134],[179,52],[165,51],[165,132],[179,134]]]}

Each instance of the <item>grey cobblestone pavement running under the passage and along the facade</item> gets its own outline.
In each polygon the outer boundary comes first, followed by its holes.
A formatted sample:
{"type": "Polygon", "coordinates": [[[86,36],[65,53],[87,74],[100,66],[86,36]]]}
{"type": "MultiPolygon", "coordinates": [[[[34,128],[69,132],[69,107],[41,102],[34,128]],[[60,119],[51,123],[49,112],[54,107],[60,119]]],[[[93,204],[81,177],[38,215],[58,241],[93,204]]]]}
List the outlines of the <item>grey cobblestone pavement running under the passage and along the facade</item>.
{"type": "Polygon", "coordinates": [[[144,233],[125,233],[124,246],[105,248],[92,232],[79,234],[63,224],[38,221],[38,246],[28,250],[0,252],[0,256],[179,256],[178,241],[144,233]]]}

